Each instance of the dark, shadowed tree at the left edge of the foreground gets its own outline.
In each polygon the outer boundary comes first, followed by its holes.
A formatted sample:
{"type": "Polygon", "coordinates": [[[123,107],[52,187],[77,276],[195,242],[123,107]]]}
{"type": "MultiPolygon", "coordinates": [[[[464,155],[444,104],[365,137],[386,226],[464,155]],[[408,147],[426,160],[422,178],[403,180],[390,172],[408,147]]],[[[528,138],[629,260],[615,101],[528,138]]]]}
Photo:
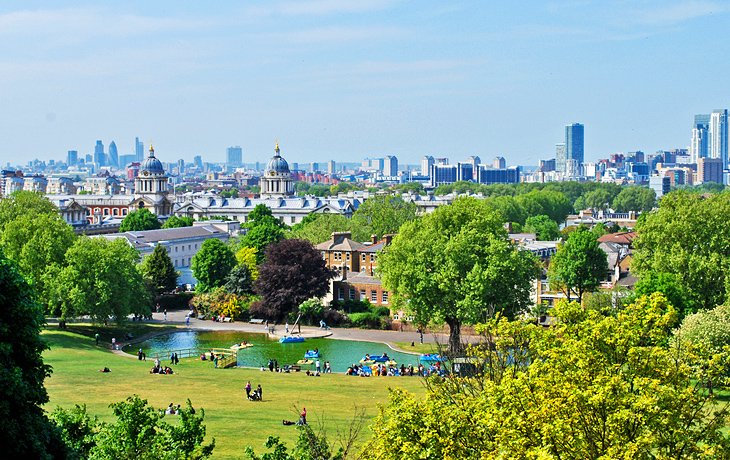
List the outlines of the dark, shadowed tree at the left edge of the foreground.
{"type": "Polygon", "coordinates": [[[48,394],[43,381],[50,366],[41,353],[48,348],[40,337],[43,309],[17,266],[0,251],[0,442],[6,458],[50,459],[61,441],[46,418],[48,394]]]}

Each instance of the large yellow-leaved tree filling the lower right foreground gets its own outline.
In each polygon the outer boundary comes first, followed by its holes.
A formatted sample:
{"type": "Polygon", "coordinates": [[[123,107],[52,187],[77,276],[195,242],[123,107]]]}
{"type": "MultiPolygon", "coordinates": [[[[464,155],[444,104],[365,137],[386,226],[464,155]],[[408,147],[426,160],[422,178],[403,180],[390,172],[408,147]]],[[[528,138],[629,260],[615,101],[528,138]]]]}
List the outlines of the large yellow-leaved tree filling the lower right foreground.
{"type": "Polygon", "coordinates": [[[362,454],[379,459],[724,458],[724,404],[697,383],[697,357],[671,341],[660,295],[617,314],[554,309],[542,328],[477,328],[471,376],[427,380],[425,397],[391,391],[362,454]],[[424,453],[426,455],[424,455],[424,453]]]}

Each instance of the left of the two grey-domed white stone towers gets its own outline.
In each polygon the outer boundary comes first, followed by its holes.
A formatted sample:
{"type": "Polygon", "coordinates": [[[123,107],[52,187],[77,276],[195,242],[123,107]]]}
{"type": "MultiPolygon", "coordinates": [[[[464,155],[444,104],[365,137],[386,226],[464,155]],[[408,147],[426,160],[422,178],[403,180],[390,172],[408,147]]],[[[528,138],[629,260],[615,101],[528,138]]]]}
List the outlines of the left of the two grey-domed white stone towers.
{"type": "Polygon", "coordinates": [[[169,195],[165,168],[155,158],[155,149],[150,146],[149,155],[140,165],[139,174],[134,180],[134,201],[130,210],[132,207],[147,208],[157,216],[169,216],[173,206],[169,195]]]}

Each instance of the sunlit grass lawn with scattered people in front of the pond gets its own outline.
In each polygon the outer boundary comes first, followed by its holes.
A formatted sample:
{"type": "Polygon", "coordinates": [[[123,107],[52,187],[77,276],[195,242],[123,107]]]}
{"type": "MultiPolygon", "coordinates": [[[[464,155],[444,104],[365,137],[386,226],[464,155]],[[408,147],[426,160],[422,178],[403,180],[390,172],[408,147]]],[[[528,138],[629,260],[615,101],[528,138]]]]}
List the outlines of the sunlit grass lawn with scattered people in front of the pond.
{"type": "MultiPolygon", "coordinates": [[[[174,367],[174,375],[153,375],[149,374],[152,361],[119,356],[96,346],[94,332],[77,326],[69,331],[43,331],[43,338],[51,346],[44,359],[53,367],[52,376],[46,380],[50,396],[46,409],[86,404],[90,414],[111,421],[109,404],[131,394],[140,395],[157,408],[170,403],[184,406],[189,398],[196,409],[205,409],[207,439],[216,439],[214,458],[241,458],[247,445],[261,453],[269,435],[293,445],[296,429],[283,426],[281,421],[296,421],[302,406],[307,407],[310,423],[323,420],[330,439],[334,439],[338,430],[345,429],[356,406],[366,410],[370,421],[377,414],[377,405],[387,400],[388,387],[424,391],[417,377],[307,377],[303,373],[214,369],[212,363],[197,359],[181,360],[174,367]],[[112,372],[98,372],[105,366],[112,372]],[[245,399],[243,387],[247,380],[254,388],[261,384],[262,402],[245,399]]],[[[150,331],[140,329],[133,333],[140,336],[145,332],[150,331]]],[[[369,431],[365,429],[362,438],[367,436],[369,431]]]]}

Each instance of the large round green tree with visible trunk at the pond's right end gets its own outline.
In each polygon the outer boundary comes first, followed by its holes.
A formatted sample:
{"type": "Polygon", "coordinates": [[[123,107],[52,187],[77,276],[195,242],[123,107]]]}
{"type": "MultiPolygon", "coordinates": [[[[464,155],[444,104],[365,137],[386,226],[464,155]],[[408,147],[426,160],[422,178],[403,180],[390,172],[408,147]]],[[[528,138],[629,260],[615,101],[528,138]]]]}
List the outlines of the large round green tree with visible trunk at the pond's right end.
{"type": "Polygon", "coordinates": [[[537,260],[507,239],[500,215],[475,198],[459,198],[403,225],[378,259],[384,287],[416,322],[446,322],[449,350],[462,348],[461,325],[530,304],[537,260]]]}

